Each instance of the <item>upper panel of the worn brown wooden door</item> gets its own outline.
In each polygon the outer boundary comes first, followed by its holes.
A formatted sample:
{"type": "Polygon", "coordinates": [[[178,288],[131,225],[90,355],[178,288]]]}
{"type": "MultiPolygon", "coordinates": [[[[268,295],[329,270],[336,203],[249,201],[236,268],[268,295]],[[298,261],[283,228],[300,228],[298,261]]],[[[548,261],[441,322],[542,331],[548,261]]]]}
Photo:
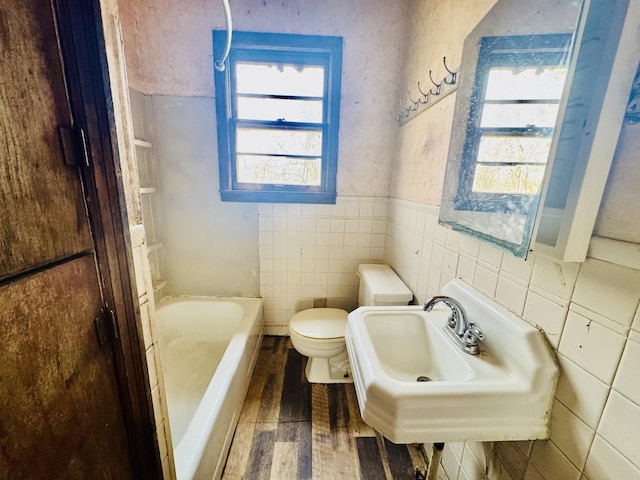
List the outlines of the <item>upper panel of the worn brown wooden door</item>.
{"type": "Polygon", "coordinates": [[[51,5],[0,6],[0,278],[92,249],[82,187],[58,125],[71,125],[51,5]]]}

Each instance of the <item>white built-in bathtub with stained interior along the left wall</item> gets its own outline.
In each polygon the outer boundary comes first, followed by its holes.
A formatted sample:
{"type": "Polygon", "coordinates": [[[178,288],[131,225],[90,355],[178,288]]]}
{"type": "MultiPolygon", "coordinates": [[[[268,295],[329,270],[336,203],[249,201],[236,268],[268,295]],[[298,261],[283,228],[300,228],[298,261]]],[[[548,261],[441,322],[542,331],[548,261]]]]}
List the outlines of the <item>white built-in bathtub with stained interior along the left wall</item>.
{"type": "Polygon", "coordinates": [[[165,297],[157,321],[178,480],[220,478],[262,341],[262,300],[165,297]]]}

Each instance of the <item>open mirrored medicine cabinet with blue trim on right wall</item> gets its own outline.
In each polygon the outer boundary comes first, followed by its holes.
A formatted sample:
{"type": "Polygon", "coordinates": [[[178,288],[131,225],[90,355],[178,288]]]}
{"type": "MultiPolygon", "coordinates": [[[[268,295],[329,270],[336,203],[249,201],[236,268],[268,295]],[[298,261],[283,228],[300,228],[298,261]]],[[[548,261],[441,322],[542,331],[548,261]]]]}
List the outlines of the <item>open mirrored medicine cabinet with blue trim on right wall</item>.
{"type": "Polygon", "coordinates": [[[640,60],[637,4],[496,3],[464,43],[441,224],[585,259],[640,60]]]}

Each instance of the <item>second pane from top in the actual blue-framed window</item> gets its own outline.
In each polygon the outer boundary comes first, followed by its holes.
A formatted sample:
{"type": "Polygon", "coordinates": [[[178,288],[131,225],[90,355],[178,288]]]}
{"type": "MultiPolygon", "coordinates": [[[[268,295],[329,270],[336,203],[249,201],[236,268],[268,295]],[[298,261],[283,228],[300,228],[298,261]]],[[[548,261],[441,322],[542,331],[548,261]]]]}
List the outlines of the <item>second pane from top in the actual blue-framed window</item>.
{"type": "Polygon", "coordinates": [[[237,102],[237,116],[240,119],[322,122],[322,100],[238,97],[237,102]]]}

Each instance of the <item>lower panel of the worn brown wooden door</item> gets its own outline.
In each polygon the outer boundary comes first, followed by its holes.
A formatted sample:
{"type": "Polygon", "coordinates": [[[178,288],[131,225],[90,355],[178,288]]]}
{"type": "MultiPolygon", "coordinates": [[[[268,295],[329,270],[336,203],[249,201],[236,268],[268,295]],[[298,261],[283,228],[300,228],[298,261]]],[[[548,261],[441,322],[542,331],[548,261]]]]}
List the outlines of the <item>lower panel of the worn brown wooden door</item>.
{"type": "Polygon", "coordinates": [[[93,255],[0,287],[0,472],[130,478],[93,255]]]}

